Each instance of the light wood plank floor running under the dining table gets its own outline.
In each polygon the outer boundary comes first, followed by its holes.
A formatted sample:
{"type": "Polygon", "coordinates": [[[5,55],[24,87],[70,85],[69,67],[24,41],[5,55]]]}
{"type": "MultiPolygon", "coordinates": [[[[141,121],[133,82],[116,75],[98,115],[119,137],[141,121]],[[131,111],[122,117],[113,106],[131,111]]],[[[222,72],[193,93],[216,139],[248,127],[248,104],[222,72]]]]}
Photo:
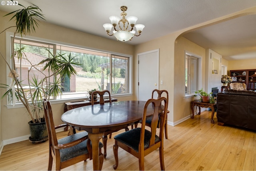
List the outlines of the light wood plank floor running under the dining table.
{"type": "MultiPolygon", "coordinates": [[[[255,131],[210,122],[211,111],[195,115],[175,127],[168,125],[164,139],[166,170],[256,170],[255,131]]],[[[117,133],[122,132],[120,130],[117,133]]],[[[58,133],[58,137],[67,132],[58,133]]],[[[117,133],[113,133],[112,137],[117,133]]],[[[114,170],[112,147],[108,139],[107,157],[102,170],[114,170]]],[[[145,170],[160,170],[158,150],[145,157],[145,170]]],[[[138,159],[118,149],[118,170],[138,170],[138,159]]],[[[32,144],[22,141],[4,146],[0,170],[47,170],[48,141],[32,144]]],[[[53,165],[54,170],[55,165],[53,165]]],[[[92,161],[80,162],[62,170],[92,170],[92,161]]]]}

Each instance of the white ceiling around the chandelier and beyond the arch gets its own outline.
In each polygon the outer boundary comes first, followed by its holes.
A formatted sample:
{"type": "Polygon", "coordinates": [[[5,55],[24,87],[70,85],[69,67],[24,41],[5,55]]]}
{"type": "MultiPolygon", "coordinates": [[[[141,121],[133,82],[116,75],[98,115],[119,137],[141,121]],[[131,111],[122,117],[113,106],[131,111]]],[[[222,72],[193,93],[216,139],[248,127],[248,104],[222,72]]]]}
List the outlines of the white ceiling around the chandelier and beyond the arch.
{"type": "MultiPolygon", "coordinates": [[[[145,28],[139,37],[125,43],[137,45],[178,30],[256,6],[256,0],[19,0],[41,8],[46,22],[88,34],[115,40],[102,27],[110,16],[120,16],[120,6],[127,6],[127,16],[136,16],[136,24],[145,28]]],[[[12,12],[19,6],[1,5],[12,12]]],[[[50,30],[49,30],[50,31],[50,30]]],[[[256,15],[242,16],[183,35],[188,40],[210,48],[226,60],[256,58],[256,15]]],[[[120,42],[122,43],[122,42],[120,42]]]]}

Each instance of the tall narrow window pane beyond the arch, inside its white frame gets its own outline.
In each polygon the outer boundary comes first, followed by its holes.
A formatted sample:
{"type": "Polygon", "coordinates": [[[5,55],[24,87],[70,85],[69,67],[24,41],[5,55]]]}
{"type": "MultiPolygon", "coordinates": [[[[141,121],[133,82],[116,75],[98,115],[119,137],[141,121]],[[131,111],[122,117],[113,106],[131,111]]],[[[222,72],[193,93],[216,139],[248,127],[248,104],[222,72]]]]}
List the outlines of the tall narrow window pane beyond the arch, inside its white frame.
{"type": "Polygon", "coordinates": [[[194,94],[198,90],[198,58],[186,54],[185,94],[194,94]]]}

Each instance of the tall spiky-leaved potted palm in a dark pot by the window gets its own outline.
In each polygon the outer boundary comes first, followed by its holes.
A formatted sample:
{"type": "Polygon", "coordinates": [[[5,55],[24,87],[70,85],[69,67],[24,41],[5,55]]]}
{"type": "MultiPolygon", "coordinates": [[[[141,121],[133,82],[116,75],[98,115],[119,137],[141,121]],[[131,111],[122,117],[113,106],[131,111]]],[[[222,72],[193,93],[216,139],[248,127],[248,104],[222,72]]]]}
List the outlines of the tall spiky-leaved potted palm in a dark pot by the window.
{"type": "MultiPolygon", "coordinates": [[[[21,4],[19,4],[22,6],[21,4]]],[[[29,34],[30,32],[35,32],[35,28],[38,27],[38,22],[44,20],[43,14],[41,14],[40,8],[35,5],[28,6],[27,8],[22,6],[22,9],[10,12],[5,16],[14,14],[10,20],[16,20],[16,28],[14,32],[14,39],[16,34],[23,35],[29,34]]],[[[9,28],[12,28],[9,27],[9,28]]],[[[6,28],[5,30],[7,30],[6,28]]],[[[5,31],[4,30],[4,31],[5,31]]],[[[0,32],[2,34],[4,31],[0,32]]],[[[28,114],[31,117],[30,124],[30,141],[45,141],[48,137],[46,125],[42,112],[42,99],[50,99],[50,97],[58,96],[62,93],[63,87],[61,85],[61,80],[65,76],[70,76],[76,74],[75,66],[79,65],[73,62],[73,58],[69,55],[64,56],[64,54],[53,54],[48,50],[50,57],[45,58],[38,64],[34,64],[29,58],[26,57],[23,48],[14,49],[14,39],[12,42],[12,66],[7,62],[6,57],[0,52],[0,56],[6,62],[6,65],[10,69],[8,76],[11,78],[11,84],[1,84],[0,87],[6,89],[2,98],[8,97],[9,101],[15,105],[16,101],[21,102],[28,114]],[[30,63],[30,68],[28,69],[28,84],[23,84],[20,80],[19,75],[16,73],[15,58],[19,60],[25,60],[30,63]],[[38,69],[38,66],[42,68],[38,69]],[[40,77],[32,76],[30,72],[36,70],[40,73],[40,77]],[[46,74],[46,72],[48,74],[46,74]],[[26,91],[25,87],[26,86],[26,91]],[[37,128],[35,125],[39,125],[37,128]],[[35,132],[34,132],[35,131],[35,132]]]]}

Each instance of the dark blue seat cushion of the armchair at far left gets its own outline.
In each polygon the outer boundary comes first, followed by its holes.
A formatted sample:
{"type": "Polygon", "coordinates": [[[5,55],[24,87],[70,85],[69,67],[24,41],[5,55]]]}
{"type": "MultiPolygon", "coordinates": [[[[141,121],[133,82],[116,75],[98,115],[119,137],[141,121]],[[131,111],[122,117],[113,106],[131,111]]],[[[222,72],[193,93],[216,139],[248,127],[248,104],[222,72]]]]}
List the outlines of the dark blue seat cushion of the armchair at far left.
{"type": "MultiPolygon", "coordinates": [[[[88,133],[86,131],[83,132],[79,132],[76,133],[74,135],[69,135],[67,137],[64,137],[62,139],[58,140],[59,144],[66,144],[72,141],[75,141],[79,138],[82,138],[84,136],[88,135],[88,133]]],[[[99,144],[100,148],[103,147],[103,144],[100,142],[99,144]]],[[[78,145],[75,145],[73,147],[70,148],[66,148],[66,149],[60,149],[60,161],[67,161],[69,159],[72,159],[74,157],[77,157],[79,155],[83,155],[88,153],[88,149],[87,149],[87,139],[85,141],[83,141],[82,143],[79,143],[78,145]]]]}

